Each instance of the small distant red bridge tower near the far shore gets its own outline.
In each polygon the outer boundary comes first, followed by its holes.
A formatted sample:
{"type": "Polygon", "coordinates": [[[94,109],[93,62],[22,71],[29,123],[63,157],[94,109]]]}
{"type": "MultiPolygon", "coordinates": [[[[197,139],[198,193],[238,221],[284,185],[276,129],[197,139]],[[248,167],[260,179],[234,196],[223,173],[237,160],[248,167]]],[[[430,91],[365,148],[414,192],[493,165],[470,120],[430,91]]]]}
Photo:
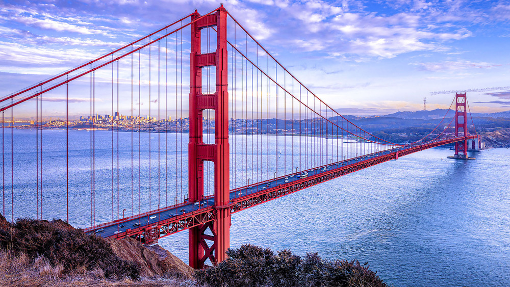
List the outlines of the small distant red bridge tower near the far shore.
{"type": "MultiPolygon", "coordinates": [[[[455,93],[455,137],[464,136],[464,138],[466,138],[468,135],[467,133],[466,93],[455,93]]],[[[453,158],[469,159],[467,139],[455,143],[455,155],[453,158]]]]}

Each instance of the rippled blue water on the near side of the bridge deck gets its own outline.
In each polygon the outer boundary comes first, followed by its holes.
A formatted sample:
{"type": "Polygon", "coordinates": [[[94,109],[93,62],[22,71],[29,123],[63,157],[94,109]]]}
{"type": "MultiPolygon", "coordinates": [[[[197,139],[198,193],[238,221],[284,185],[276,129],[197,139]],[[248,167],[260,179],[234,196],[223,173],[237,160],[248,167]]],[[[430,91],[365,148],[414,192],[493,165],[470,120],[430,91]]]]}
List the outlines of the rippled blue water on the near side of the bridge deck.
{"type": "MultiPolygon", "coordinates": [[[[355,258],[394,286],[508,286],[510,149],[451,154],[406,155],[236,213],[231,247],[355,258]]],[[[187,233],[159,244],[187,262],[187,233]]]]}

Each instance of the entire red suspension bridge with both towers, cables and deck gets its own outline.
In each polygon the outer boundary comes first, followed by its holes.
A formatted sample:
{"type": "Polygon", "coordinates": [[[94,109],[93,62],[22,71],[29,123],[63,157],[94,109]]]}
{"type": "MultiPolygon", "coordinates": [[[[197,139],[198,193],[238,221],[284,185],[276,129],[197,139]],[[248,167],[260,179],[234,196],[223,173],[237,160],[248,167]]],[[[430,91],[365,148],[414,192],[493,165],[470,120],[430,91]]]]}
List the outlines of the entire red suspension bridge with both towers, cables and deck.
{"type": "Polygon", "coordinates": [[[468,132],[466,94],[454,103],[416,142],[376,137],[223,6],[195,10],[0,99],[2,212],[146,244],[188,229],[189,264],[201,268],[225,259],[233,213],[444,144],[468,159],[480,137],[468,132]],[[31,123],[16,126],[23,115],[31,123]]]}

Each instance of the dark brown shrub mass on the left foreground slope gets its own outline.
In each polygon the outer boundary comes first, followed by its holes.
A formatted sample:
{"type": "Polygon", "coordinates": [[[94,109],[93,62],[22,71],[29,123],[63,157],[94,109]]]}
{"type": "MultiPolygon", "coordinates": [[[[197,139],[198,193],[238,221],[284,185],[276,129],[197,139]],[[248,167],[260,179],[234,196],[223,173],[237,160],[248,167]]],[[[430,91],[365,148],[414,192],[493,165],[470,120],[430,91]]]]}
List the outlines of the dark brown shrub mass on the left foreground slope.
{"type": "Polygon", "coordinates": [[[106,240],[62,220],[18,219],[0,229],[0,248],[25,253],[32,260],[43,255],[52,267],[62,266],[65,273],[99,268],[106,277],[139,277],[138,267],[119,258],[106,240]]]}

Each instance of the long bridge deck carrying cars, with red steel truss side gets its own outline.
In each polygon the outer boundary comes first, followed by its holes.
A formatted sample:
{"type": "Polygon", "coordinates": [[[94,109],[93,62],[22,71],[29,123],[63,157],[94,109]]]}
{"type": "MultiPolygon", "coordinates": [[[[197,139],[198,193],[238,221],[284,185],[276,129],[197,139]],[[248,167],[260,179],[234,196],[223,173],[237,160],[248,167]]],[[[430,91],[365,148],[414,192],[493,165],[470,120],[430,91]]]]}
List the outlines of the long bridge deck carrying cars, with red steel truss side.
{"type": "MultiPolygon", "coordinates": [[[[468,136],[467,139],[476,137],[468,136]]],[[[402,146],[388,149],[237,188],[230,192],[231,213],[236,213],[251,206],[320,184],[326,180],[376,164],[396,160],[399,156],[444,144],[455,143],[464,139],[464,137],[460,137],[436,140],[418,146],[402,146]],[[304,173],[307,173],[307,175],[303,175],[304,173]]],[[[123,238],[125,236],[132,236],[142,242],[150,243],[169,234],[213,221],[214,218],[214,196],[208,196],[199,202],[185,202],[103,223],[86,228],[85,232],[96,233],[102,237],[123,238]],[[148,232],[149,230],[152,230],[152,232],[148,232]],[[157,231],[154,232],[154,230],[157,231]]]]}

